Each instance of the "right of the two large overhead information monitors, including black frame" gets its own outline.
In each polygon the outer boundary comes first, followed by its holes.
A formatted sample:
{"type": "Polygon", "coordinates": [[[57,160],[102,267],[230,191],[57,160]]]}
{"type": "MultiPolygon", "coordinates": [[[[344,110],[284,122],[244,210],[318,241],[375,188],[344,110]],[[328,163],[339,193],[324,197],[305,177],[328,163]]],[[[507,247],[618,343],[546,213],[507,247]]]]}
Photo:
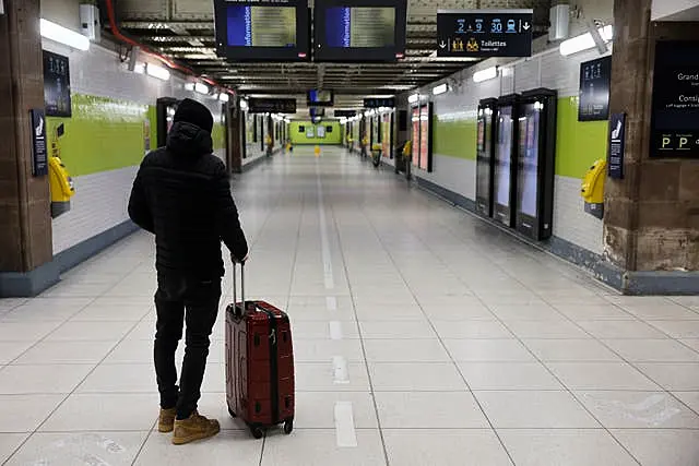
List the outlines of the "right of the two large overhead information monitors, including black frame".
{"type": "Polygon", "coordinates": [[[316,0],[316,61],[405,56],[406,0],[316,0]]]}

